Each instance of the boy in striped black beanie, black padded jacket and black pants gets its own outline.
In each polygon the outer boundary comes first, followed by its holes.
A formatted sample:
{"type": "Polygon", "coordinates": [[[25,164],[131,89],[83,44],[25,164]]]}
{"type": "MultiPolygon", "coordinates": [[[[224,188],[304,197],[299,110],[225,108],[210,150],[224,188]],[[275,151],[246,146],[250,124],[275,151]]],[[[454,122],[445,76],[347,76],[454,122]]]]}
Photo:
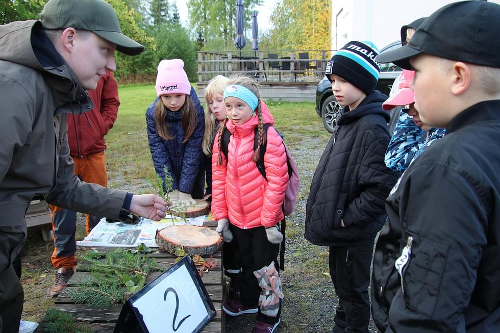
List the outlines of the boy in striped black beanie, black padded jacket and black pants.
{"type": "Polygon", "coordinates": [[[311,182],[305,238],[330,246],[330,275],[339,298],[335,333],[368,331],[373,242],[386,219],[384,200],[397,180],[384,164],[389,114],[382,110],[387,97],[374,90],[377,54],[371,43],[349,42],[326,69],[343,109],[311,182]]]}

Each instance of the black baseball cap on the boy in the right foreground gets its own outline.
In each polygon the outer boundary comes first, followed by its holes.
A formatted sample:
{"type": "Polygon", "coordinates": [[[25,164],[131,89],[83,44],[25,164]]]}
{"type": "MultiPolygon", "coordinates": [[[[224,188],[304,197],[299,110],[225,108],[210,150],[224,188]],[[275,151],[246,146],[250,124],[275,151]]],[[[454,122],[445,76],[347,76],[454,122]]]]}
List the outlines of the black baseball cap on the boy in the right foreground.
{"type": "Polygon", "coordinates": [[[408,45],[381,53],[375,60],[412,69],[410,58],[421,53],[500,68],[500,5],[463,1],[446,5],[420,24],[408,45]]]}

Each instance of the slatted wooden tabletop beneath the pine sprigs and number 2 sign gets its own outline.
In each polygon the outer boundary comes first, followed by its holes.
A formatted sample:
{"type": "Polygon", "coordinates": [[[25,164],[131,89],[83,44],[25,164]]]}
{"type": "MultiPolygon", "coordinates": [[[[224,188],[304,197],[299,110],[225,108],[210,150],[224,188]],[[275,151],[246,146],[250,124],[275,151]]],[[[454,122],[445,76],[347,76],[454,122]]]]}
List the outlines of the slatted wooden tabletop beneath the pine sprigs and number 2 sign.
{"type": "MultiPolygon", "coordinates": [[[[205,226],[215,227],[216,222],[205,222],[205,226]]],[[[96,247],[99,252],[107,252],[112,248],[109,247],[96,247]]],[[[173,261],[176,257],[166,251],[154,251],[148,254],[150,258],[155,258],[159,267],[169,268],[172,266],[173,261]]],[[[204,258],[210,258],[210,255],[204,256],[204,258]]],[[[207,288],[207,292],[210,295],[210,299],[216,310],[215,317],[204,327],[202,332],[208,333],[219,333],[226,331],[226,318],[222,311],[222,301],[224,300],[224,286],[226,280],[222,274],[222,253],[217,251],[213,254],[213,258],[217,259],[218,265],[216,268],[211,269],[208,273],[202,276],[202,281],[207,288]]],[[[150,272],[146,276],[146,284],[154,280],[156,277],[160,276],[161,272],[150,272]]],[[[86,271],[79,271],[78,266],[76,271],[68,281],[68,287],[66,287],[61,294],[56,298],[54,309],[70,312],[75,318],[81,321],[89,323],[89,325],[98,333],[108,333],[112,332],[114,326],[120,315],[122,304],[117,304],[111,306],[107,310],[102,309],[92,309],[88,308],[84,304],[75,304],[74,301],[69,299],[67,291],[74,288],[77,282],[81,278],[89,276],[86,271]]],[[[43,327],[40,327],[36,332],[44,332],[43,327]]]]}

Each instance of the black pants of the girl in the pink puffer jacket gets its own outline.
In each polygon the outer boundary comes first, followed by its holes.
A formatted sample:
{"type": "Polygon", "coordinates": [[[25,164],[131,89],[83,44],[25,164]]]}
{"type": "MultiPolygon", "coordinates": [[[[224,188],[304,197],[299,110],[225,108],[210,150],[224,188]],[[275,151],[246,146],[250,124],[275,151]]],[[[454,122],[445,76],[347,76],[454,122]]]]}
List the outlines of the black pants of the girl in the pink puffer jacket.
{"type": "MultiPolygon", "coordinates": [[[[274,262],[276,270],[278,272],[280,271],[278,263],[280,244],[272,244],[267,240],[266,229],[263,226],[251,229],[240,229],[230,224],[229,227],[233,233],[233,242],[236,241],[236,245],[240,252],[242,269],[239,278],[241,304],[245,306],[258,306],[259,295],[262,288],[260,288],[257,282],[254,271],[269,266],[271,262],[274,262]]],[[[259,308],[256,319],[268,324],[276,324],[280,319],[280,314],[281,300],[278,316],[266,316],[261,313],[259,308]]]]}

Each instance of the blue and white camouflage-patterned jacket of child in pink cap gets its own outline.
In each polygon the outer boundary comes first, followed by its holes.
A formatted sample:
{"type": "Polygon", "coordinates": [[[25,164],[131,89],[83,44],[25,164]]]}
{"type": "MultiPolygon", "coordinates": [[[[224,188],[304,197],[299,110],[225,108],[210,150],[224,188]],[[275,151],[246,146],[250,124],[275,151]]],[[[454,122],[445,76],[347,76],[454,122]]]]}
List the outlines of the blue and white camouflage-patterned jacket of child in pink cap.
{"type": "Polygon", "coordinates": [[[405,112],[399,114],[391,141],[385,153],[385,164],[394,171],[403,172],[431,143],[446,134],[445,129],[431,129],[427,138],[424,131],[417,126],[412,117],[405,112]]]}

